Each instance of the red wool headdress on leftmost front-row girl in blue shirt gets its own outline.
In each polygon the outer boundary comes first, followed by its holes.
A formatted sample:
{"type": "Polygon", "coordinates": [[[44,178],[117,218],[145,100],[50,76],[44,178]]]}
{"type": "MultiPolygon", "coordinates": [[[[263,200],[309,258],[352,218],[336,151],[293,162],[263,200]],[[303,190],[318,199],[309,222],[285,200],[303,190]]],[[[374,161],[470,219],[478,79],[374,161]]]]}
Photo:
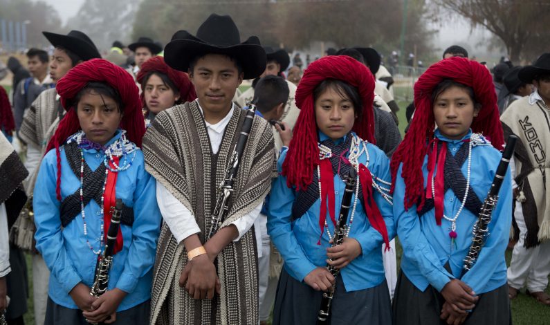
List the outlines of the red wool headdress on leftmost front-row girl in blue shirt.
{"type": "Polygon", "coordinates": [[[55,86],[67,113],[48,142],[46,152],[63,145],[69,136],[80,130],[76,109],[68,104],[76,104],[73,103],[73,98],[89,82],[105,82],[118,91],[124,106],[120,127],[126,130],[128,140],[141,147],[141,139],[145,134],[145,120],[141,112],[138,86],[131,75],[120,66],[105,59],[91,59],[71,68],[55,86]]]}

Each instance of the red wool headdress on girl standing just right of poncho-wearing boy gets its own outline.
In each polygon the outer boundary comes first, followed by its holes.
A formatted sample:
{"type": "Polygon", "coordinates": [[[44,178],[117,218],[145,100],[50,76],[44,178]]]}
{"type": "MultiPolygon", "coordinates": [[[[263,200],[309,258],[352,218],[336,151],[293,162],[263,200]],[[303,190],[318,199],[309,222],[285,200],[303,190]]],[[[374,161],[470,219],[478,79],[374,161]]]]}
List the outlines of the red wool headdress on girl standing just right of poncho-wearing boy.
{"type": "Polygon", "coordinates": [[[317,124],[313,91],[323,80],[336,79],[356,87],[362,99],[363,114],[356,118],[352,131],[376,144],[374,140],[374,77],[369,69],[356,59],[342,55],[322,57],[312,62],[298,84],[295,100],[300,115],[294,127],[294,136],[283,163],[282,174],[287,185],[306,189],[313,180],[313,168],[320,164],[317,146],[317,124]]]}

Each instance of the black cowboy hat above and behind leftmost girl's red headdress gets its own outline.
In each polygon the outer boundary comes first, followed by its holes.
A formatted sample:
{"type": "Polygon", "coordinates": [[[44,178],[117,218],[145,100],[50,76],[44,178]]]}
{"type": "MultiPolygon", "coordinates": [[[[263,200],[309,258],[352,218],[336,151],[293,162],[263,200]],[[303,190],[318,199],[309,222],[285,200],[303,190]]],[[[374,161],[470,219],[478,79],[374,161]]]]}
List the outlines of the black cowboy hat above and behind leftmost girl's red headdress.
{"type": "Polygon", "coordinates": [[[71,30],[67,35],[55,34],[53,32],[42,32],[42,34],[54,47],[66,48],[84,61],[101,59],[100,51],[98,51],[93,41],[84,32],[71,30]]]}

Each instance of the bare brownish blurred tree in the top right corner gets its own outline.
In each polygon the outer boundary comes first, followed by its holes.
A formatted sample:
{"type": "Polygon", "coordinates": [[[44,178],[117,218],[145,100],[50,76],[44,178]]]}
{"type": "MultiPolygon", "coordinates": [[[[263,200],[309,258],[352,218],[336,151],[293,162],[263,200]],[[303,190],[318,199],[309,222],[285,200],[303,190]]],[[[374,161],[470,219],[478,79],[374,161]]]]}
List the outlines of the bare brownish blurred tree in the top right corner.
{"type": "MultiPolygon", "coordinates": [[[[516,64],[533,51],[548,50],[550,0],[434,0],[443,10],[484,26],[502,39],[508,56],[516,64]],[[527,52],[525,52],[527,50],[527,52]]],[[[434,6],[435,10],[439,10],[434,6]]]]}

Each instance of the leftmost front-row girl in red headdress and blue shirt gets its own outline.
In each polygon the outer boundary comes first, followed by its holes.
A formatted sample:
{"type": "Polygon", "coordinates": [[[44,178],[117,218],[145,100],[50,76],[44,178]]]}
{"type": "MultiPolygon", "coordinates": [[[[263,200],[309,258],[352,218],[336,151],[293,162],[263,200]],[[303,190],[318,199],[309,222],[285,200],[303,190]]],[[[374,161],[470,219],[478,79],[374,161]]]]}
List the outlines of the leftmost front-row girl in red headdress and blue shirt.
{"type": "Polygon", "coordinates": [[[45,324],[148,324],[161,214],[138,148],[145,133],[138,88],[104,59],[75,66],[56,88],[67,113],[48,143],[33,201],[36,248],[51,270],[45,324]],[[95,298],[90,288],[118,198],[124,207],[108,289],[95,298]]]}

